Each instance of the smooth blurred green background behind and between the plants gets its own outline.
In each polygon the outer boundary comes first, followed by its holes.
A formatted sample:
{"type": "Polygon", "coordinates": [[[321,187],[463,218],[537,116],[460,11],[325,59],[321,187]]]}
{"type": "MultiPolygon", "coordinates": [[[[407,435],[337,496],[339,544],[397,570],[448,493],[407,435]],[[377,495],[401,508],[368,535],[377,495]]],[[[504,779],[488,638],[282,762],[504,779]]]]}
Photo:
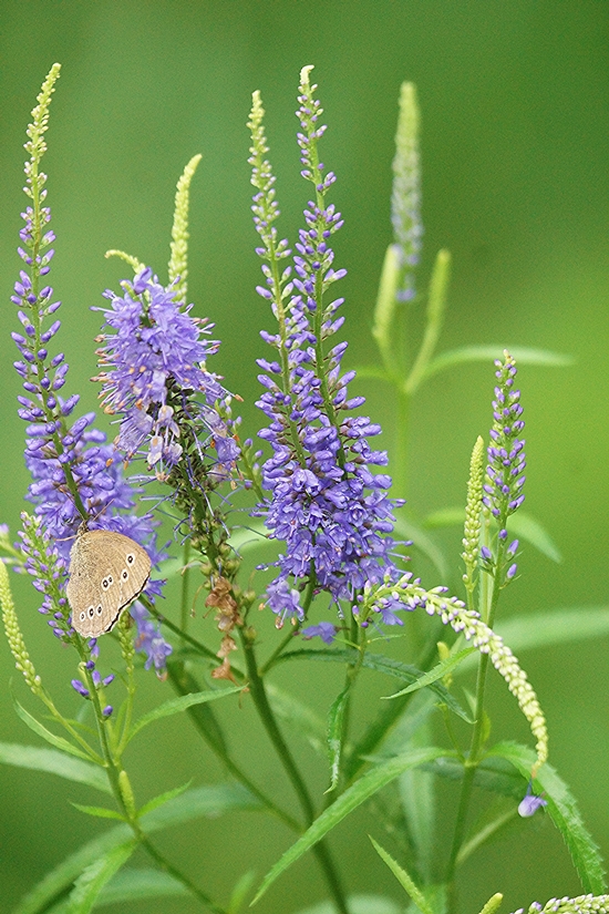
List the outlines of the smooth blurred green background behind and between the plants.
{"type": "MultiPolygon", "coordinates": [[[[22,143],[50,65],[60,61],[63,68],[44,171],[58,235],[52,285],[64,301],[61,348],[72,366],[70,390],[82,392],[84,407],[94,407],[96,389],[87,379],[95,372],[93,337],[100,315],[90,308],[102,304],[104,288],[117,288],[124,273],[120,261],[104,260],[104,251],[123,248],[164,275],[175,182],[188,158],[202,152],[192,194],[189,290],[197,312],[216,321],[224,340],[214,368],[244,397],[247,432],[259,422],[252,405],[255,358],[266,355],[258,330],[269,327],[269,318],[254,292],[259,264],[252,253],[245,123],[251,92],[260,89],[283,212],[280,230],[293,237],[308,194],[298,178],[295,99],[300,68],[314,63],[329,124],[322,160],[338,174],[334,198],[347,220],[336,244],[338,266],[349,269],[342,284],[351,343],[345,364],[370,363],[375,357],[372,305],[391,239],[396,100],[407,79],[417,85],[423,114],[420,287],[426,285],[438,247],[454,257],[441,349],[496,342],[545,347],[576,359],[569,369],[520,369],[526,507],[551,532],[565,558],[555,565],[526,550],[522,578],[508,592],[504,612],[602,604],[609,546],[608,32],[603,0],[2,0],[0,281],[7,304],[0,338],[1,520],[16,530],[28,484],[24,429],[14,412],[19,384],[10,367],[14,347],[9,330],[17,319],[8,299],[20,263],[14,247],[24,206],[22,143]]],[[[409,492],[416,512],[463,501],[473,442],[488,428],[492,386],[491,367],[475,366],[434,378],[421,391],[413,412],[409,492]]],[[[358,392],[363,389],[362,382],[358,392]]],[[[383,441],[391,448],[388,391],[367,383],[367,393],[370,413],[384,421],[383,441]]],[[[458,533],[440,538],[456,556],[458,533]]],[[[456,567],[454,559],[453,572],[456,567]]],[[[16,590],[37,666],[68,711],[75,712],[80,699],[64,685],[74,675],[73,660],[33,613],[38,604],[28,582],[17,582],[16,590]]],[[[209,631],[210,620],[206,625],[209,631]]],[[[271,644],[270,627],[268,637],[271,644]]],[[[547,712],[550,759],[571,784],[606,855],[607,647],[605,639],[522,656],[547,712]]],[[[0,739],[31,742],[34,738],[11,706],[11,676],[2,640],[0,739]]],[[[279,679],[303,698],[311,694],[321,713],[339,681],[323,670],[326,690],[319,670],[300,667],[282,670],[279,679]]],[[[16,688],[23,698],[21,682],[16,688]]],[[[168,686],[154,676],[145,678],[144,691],[144,705],[168,697],[168,686]]],[[[514,732],[529,740],[513,699],[495,679],[492,709],[494,735],[514,732]]],[[[261,782],[291,802],[280,772],[268,761],[248,702],[240,710],[236,702],[223,710],[239,735],[241,758],[254,763],[261,782]]],[[[300,751],[298,743],[295,748],[300,751]]],[[[307,749],[301,759],[321,792],[322,766],[307,749]]],[[[196,783],[224,777],[178,718],[146,730],[127,762],[142,799],[190,777],[196,783]]],[[[8,911],[52,865],[105,825],[70,805],[69,800],[95,802],[87,791],[52,776],[2,768],[0,785],[0,907],[8,911]]],[[[401,898],[365,830],[381,836],[374,821],[360,813],[333,838],[345,877],[354,891],[385,891],[401,898]]],[[[218,897],[226,897],[252,866],[261,876],[290,842],[280,826],[252,813],[202,821],[185,834],[159,840],[218,897]]],[[[522,830],[516,844],[495,844],[467,865],[461,887],[464,912],[479,910],[495,891],[506,895],[504,911],[579,891],[568,855],[541,815],[522,830]]],[[[258,910],[297,911],[323,895],[308,857],[258,910]]],[[[171,914],[197,908],[188,900],[121,906],[122,914],[144,910],[171,914]]]]}

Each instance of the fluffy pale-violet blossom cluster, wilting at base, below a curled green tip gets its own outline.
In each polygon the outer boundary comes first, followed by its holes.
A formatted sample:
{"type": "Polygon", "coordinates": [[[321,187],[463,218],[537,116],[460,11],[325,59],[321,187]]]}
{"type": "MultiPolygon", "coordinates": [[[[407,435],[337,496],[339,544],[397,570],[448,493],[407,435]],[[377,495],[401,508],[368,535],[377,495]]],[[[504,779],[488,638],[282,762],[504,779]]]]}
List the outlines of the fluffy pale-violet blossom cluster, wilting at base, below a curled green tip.
{"type": "Polygon", "coordinates": [[[206,339],[214,325],[193,317],[192,305],[176,301],[175,284],[165,288],[148,267],[122,286],[122,296],[104,292],[111,332],[99,338],[97,350],[106,412],[121,417],[116,448],[126,460],[145,453],[148,466],[165,480],[184,454],[189,427],[199,455],[214,450],[211,472],[218,481],[226,479],[239,448],[230,396],[206,368],[219,347],[206,339]]]}

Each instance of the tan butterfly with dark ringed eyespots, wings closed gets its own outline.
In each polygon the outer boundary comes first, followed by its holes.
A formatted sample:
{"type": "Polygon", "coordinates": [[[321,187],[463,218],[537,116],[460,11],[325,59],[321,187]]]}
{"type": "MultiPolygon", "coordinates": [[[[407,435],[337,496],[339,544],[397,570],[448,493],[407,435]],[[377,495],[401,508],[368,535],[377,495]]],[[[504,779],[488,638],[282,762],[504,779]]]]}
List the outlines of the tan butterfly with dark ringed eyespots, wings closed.
{"type": "Polygon", "coordinates": [[[147,552],[128,536],[81,527],[70,552],[65,588],[79,635],[96,638],[110,631],[146,586],[151,567],[147,552]]]}

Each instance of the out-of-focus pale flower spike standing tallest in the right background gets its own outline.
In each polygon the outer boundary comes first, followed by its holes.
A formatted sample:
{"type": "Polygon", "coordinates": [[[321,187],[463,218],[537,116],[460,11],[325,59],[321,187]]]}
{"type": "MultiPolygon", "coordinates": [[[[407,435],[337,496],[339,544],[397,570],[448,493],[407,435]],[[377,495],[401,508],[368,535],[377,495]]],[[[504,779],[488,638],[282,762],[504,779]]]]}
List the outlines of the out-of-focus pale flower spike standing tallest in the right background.
{"type": "Polygon", "coordinates": [[[421,222],[420,124],[416,88],[411,82],[404,82],[400,92],[400,115],[395,134],[391,193],[391,222],[401,271],[401,283],[396,294],[399,301],[411,301],[414,298],[414,268],[421,257],[423,224],[421,222]]]}

